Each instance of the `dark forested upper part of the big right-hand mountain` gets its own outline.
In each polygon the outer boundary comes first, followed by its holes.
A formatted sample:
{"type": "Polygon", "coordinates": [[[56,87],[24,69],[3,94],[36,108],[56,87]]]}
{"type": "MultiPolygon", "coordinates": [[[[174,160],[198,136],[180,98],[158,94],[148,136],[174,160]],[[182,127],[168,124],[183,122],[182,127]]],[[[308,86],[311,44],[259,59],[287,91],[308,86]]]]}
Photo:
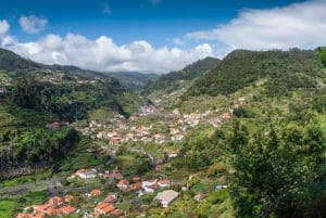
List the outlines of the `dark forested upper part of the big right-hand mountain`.
{"type": "Polygon", "coordinates": [[[315,50],[236,50],[197,79],[186,95],[230,94],[259,79],[267,95],[284,95],[299,88],[316,87],[316,79],[324,76],[322,68],[315,50]]]}

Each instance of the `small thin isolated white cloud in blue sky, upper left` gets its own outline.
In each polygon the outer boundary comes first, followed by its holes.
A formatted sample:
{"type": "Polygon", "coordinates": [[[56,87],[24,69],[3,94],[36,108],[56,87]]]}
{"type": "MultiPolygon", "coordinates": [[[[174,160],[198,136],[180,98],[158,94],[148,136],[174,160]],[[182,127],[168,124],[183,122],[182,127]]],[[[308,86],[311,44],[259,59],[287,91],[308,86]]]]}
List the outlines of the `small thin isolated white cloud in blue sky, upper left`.
{"type": "Polygon", "coordinates": [[[48,24],[48,20],[40,18],[35,15],[30,16],[21,16],[20,25],[23,31],[27,34],[38,34],[43,30],[48,24]]]}

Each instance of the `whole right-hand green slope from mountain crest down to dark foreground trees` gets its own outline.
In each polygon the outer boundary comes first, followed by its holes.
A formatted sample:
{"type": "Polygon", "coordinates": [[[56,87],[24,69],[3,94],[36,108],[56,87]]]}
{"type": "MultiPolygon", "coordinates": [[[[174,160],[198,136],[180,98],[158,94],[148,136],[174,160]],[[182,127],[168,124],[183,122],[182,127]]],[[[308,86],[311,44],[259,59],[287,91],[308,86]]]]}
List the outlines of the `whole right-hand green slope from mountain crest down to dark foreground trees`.
{"type": "Polygon", "coordinates": [[[233,112],[215,133],[185,142],[175,164],[208,174],[221,161],[231,167],[224,175],[236,217],[326,216],[323,55],[234,51],[184,94],[181,108],[233,112]]]}

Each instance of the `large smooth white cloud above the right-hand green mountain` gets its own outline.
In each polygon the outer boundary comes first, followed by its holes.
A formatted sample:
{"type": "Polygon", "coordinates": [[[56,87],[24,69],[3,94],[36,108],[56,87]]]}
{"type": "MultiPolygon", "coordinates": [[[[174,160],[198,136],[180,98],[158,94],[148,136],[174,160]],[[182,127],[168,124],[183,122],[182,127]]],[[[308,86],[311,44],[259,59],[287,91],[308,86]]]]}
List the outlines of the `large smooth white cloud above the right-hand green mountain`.
{"type": "Polygon", "coordinates": [[[238,17],[212,30],[190,33],[229,49],[314,48],[326,43],[326,1],[313,0],[269,10],[243,10],[238,17]]]}

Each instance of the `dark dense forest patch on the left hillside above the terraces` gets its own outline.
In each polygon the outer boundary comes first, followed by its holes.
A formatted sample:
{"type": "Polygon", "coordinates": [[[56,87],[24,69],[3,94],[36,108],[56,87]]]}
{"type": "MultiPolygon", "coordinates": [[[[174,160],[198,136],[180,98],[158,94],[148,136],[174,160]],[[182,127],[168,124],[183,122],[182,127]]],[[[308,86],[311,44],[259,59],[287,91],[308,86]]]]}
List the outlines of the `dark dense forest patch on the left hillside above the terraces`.
{"type": "Polygon", "coordinates": [[[88,111],[102,106],[129,115],[122,103],[124,90],[115,79],[54,85],[24,77],[12,89],[12,100],[18,106],[57,114],[62,121],[87,119],[88,111]]]}

